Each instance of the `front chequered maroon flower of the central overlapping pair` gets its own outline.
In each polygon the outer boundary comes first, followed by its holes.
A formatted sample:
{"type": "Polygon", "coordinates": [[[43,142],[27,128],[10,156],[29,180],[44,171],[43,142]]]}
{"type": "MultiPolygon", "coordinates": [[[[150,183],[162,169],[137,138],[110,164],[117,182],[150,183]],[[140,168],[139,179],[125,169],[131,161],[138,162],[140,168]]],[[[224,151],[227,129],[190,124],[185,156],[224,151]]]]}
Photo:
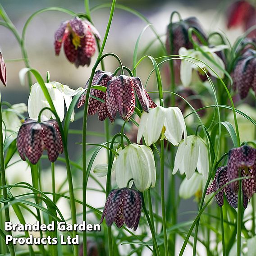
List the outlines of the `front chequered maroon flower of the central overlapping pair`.
{"type": "Polygon", "coordinates": [[[148,112],[149,108],[156,107],[142,86],[140,78],[120,75],[107,83],[106,105],[111,122],[114,122],[117,111],[124,120],[132,116],[135,109],[133,89],[144,111],[148,112]]]}

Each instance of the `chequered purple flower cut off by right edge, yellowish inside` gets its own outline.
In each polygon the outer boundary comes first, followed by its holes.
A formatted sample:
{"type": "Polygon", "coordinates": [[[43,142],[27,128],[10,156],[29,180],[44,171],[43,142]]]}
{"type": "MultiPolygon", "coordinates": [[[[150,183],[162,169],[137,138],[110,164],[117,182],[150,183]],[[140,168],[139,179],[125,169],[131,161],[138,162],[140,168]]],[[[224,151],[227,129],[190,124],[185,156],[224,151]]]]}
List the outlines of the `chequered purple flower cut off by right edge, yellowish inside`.
{"type": "MultiPolygon", "coordinates": [[[[251,146],[241,146],[229,151],[228,180],[239,177],[239,169],[242,177],[251,177],[242,180],[244,196],[248,199],[256,192],[256,149],[251,146]]],[[[238,181],[230,183],[233,192],[238,193],[238,181]]]]}

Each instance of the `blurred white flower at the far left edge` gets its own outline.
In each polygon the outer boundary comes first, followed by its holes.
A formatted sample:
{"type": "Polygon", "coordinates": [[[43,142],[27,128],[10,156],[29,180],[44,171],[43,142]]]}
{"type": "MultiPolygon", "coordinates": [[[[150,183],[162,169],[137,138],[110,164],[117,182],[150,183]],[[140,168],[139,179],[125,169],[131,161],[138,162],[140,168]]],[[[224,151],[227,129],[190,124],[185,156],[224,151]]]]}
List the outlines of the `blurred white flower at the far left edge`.
{"type": "Polygon", "coordinates": [[[21,126],[21,119],[18,115],[25,112],[27,112],[27,105],[25,103],[14,104],[10,108],[3,110],[2,119],[5,123],[3,126],[4,135],[6,131],[6,136],[13,134],[12,137],[17,137],[17,133],[15,132],[18,132],[21,126]]]}

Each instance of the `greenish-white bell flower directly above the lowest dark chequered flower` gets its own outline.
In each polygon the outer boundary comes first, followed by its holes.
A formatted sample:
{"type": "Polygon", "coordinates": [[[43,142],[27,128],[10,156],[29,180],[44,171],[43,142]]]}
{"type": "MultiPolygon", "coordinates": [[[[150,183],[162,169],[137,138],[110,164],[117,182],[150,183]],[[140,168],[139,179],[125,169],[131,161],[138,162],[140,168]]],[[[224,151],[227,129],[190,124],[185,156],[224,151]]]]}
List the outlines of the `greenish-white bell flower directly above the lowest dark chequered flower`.
{"type": "MultiPolygon", "coordinates": [[[[155,160],[149,146],[130,144],[118,150],[115,178],[119,188],[126,187],[130,179],[140,192],[155,187],[155,160]]],[[[130,182],[129,185],[132,185],[130,182]]]]}

